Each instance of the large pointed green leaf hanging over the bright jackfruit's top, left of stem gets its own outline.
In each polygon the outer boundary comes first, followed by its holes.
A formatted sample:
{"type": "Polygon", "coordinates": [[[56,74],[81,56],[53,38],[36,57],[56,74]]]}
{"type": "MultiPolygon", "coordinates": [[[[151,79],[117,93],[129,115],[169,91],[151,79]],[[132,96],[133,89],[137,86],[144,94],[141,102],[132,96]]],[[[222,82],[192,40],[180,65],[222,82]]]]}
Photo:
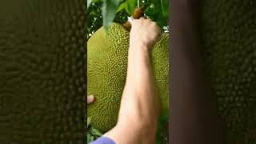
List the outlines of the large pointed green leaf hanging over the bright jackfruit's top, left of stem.
{"type": "Polygon", "coordinates": [[[114,16],[118,10],[118,0],[103,0],[102,6],[102,18],[103,26],[107,32],[111,22],[114,20],[114,16]]]}

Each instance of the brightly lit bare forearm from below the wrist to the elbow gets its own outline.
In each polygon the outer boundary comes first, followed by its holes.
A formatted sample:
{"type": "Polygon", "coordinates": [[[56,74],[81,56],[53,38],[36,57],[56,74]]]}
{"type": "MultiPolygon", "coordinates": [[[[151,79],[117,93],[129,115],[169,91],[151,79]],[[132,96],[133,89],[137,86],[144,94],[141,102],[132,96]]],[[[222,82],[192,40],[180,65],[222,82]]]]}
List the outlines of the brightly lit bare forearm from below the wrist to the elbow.
{"type": "Polygon", "coordinates": [[[134,142],[150,143],[155,139],[157,120],[158,97],[150,52],[142,47],[130,47],[118,126],[136,131],[129,133],[134,142]]]}

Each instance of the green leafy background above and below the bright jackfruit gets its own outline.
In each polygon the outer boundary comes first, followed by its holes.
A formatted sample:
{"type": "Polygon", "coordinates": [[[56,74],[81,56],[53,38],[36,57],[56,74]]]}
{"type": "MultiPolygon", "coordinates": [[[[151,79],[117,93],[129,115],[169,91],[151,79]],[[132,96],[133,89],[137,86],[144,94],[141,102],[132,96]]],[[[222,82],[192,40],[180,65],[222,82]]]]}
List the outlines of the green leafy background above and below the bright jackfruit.
{"type": "MultiPolygon", "coordinates": [[[[86,38],[102,26],[107,29],[111,22],[125,23],[135,7],[141,6],[145,7],[146,16],[162,27],[163,33],[169,33],[169,0],[87,0],[86,38]]],[[[168,143],[168,113],[168,110],[163,111],[158,118],[157,144],[168,143]]],[[[90,126],[90,118],[87,118],[86,142],[100,136],[102,132],[90,126]]]]}

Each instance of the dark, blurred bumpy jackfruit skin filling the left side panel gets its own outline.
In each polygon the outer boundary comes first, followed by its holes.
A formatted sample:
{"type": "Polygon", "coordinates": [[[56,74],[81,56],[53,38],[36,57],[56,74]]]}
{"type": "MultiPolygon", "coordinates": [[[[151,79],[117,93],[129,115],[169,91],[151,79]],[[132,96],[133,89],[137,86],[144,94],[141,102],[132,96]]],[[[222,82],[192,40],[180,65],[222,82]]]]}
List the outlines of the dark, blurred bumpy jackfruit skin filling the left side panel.
{"type": "Polygon", "coordinates": [[[0,1],[0,143],[85,143],[83,0],[0,1]]]}

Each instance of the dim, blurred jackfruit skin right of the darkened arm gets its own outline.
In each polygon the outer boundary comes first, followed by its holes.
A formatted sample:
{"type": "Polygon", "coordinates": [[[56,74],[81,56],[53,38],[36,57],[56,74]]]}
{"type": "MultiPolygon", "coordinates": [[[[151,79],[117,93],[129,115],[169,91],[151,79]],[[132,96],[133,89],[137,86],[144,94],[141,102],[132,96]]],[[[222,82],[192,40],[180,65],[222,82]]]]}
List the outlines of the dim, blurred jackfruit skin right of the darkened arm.
{"type": "Polygon", "coordinates": [[[202,54],[226,143],[256,143],[256,1],[205,0],[202,54]]]}

